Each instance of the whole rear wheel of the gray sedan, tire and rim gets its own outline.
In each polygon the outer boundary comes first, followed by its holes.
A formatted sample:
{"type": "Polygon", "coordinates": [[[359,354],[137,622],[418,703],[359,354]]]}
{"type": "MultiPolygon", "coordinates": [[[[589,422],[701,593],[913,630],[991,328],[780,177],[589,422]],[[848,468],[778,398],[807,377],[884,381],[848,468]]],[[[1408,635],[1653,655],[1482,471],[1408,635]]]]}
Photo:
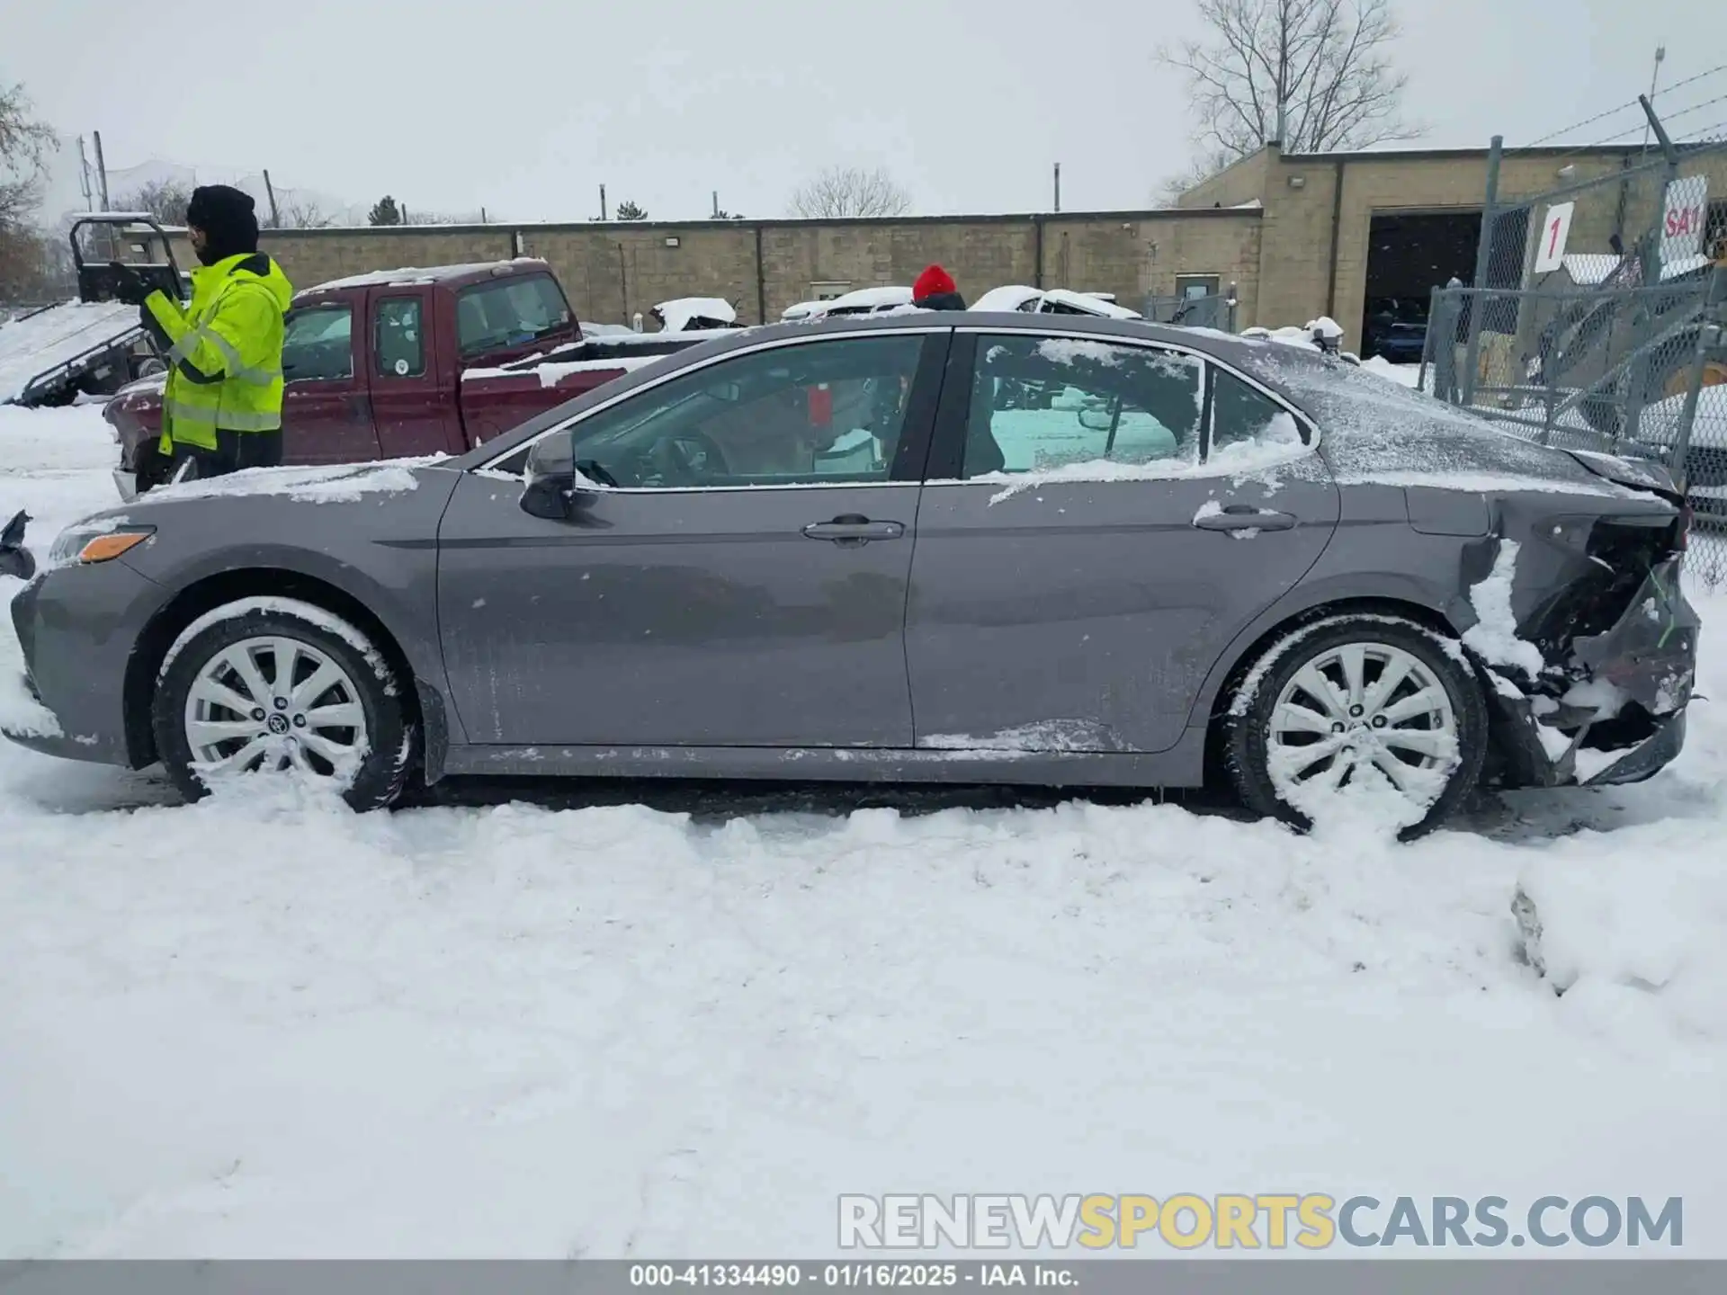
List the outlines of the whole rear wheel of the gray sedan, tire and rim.
{"type": "Polygon", "coordinates": [[[1226,753],[1250,810],[1300,829],[1378,794],[1411,839],[1442,824],[1487,756],[1473,672],[1423,625],[1345,613],[1295,630],[1230,703],[1226,753]]]}

